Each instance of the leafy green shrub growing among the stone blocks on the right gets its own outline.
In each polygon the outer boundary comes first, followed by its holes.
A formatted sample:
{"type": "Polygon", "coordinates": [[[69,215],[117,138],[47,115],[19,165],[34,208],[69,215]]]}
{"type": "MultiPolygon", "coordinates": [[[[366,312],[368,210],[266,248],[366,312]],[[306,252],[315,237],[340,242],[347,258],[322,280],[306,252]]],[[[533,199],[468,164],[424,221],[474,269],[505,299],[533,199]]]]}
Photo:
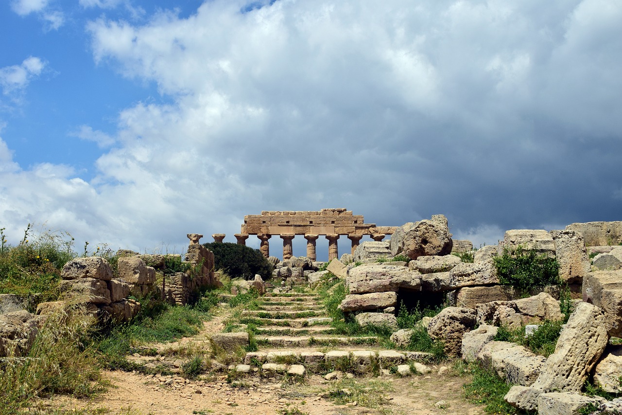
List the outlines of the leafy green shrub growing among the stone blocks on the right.
{"type": "Polygon", "coordinates": [[[554,258],[540,254],[537,250],[526,250],[521,246],[493,258],[499,282],[528,291],[533,287],[560,285],[559,264],[554,258]]]}

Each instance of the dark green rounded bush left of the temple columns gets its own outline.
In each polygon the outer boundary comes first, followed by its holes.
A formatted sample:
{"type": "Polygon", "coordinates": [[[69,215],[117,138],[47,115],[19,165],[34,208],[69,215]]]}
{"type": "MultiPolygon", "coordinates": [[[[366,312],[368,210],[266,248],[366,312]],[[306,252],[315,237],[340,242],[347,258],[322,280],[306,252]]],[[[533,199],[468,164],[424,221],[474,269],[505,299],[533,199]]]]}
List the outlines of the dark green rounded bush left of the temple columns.
{"type": "Polygon", "coordinates": [[[216,270],[223,270],[232,278],[250,280],[255,274],[264,280],[272,277],[272,265],[258,249],[231,242],[212,242],[203,246],[214,253],[216,270]]]}

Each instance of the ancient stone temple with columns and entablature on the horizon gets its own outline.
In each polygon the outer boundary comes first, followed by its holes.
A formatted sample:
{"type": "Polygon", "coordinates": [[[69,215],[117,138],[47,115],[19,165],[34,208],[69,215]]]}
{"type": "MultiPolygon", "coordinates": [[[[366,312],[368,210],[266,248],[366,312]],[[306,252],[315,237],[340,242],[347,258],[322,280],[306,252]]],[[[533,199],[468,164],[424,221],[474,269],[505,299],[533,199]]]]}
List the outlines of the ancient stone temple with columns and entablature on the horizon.
{"type": "Polygon", "coordinates": [[[316,260],[315,242],[318,237],[328,239],[328,260],[338,257],[337,240],[346,236],[352,242],[352,253],[365,235],[374,241],[382,241],[392,235],[396,227],[376,226],[364,223],[362,215],[353,215],[346,209],[322,209],[321,211],[263,211],[260,215],[244,216],[241,233],[235,234],[238,244],[246,245],[249,235],[256,235],[259,249],[265,257],[270,255],[269,239],[278,235],[283,240],[283,259],[292,257],[292,240],[302,235],[307,240],[307,257],[316,260]]]}

